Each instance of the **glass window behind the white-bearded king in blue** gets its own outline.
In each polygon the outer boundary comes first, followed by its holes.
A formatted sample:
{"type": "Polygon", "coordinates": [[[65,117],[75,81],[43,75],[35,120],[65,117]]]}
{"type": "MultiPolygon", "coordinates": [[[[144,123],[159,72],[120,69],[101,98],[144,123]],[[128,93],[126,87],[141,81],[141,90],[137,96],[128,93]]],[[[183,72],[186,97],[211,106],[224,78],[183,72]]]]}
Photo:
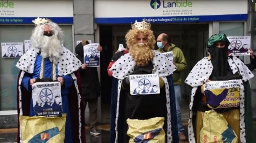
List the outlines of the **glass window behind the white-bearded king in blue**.
{"type": "MultiPolygon", "coordinates": [[[[33,25],[0,25],[0,43],[29,40],[33,25]]],[[[60,25],[64,31],[64,46],[73,52],[71,25],[60,25]]],[[[15,66],[19,58],[2,58],[0,50],[0,110],[17,110],[16,86],[19,70],[15,66]]]]}

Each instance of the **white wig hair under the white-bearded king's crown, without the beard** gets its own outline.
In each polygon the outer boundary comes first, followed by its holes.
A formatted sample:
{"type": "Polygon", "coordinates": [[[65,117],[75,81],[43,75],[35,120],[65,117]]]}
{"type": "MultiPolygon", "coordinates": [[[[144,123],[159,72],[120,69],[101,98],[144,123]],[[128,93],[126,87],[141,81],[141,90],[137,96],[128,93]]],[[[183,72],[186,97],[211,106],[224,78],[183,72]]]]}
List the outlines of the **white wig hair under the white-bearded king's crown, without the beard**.
{"type": "Polygon", "coordinates": [[[60,44],[63,43],[64,33],[61,30],[61,28],[53,22],[44,23],[37,25],[34,30],[32,31],[32,36],[30,37],[31,46],[34,48],[39,48],[41,45],[42,37],[44,34],[44,25],[48,25],[50,27],[50,30],[52,31],[52,34],[54,36],[57,36],[58,40],[60,40],[60,44]]]}

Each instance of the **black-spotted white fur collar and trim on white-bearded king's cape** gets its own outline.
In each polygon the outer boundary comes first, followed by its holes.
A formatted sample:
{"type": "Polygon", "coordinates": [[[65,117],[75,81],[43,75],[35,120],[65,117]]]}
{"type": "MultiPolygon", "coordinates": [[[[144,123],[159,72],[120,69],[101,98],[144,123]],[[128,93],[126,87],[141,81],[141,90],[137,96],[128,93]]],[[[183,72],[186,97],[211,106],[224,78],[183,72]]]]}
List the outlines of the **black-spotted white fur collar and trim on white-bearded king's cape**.
{"type": "MultiPolygon", "coordinates": [[[[38,48],[32,48],[30,49],[29,51],[27,51],[24,55],[21,56],[21,58],[19,59],[19,61],[17,62],[16,64],[16,67],[18,67],[18,69],[21,70],[20,74],[19,74],[19,77],[18,77],[18,87],[17,87],[17,99],[19,99],[17,102],[18,102],[18,112],[19,112],[19,115],[23,115],[23,108],[24,106],[22,106],[22,103],[23,101],[21,100],[21,96],[22,92],[24,92],[24,90],[22,90],[22,87],[21,87],[21,82],[22,82],[22,79],[24,77],[24,74],[25,72],[27,73],[30,73],[32,74],[34,72],[34,64],[35,64],[35,61],[36,61],[36,57],[39,53],[40,49],[38,48]]],[[[78,101],[78,121],[79,121],[79,124],[78,124],[78,127],[77,128],[77,134],[78,134],[78,142],[83,142],[83,140],[85,140],[85,138],[83,137],[84,135],[81,135],[83,130],[81,127],[82,127],[82,121],[81,120],[84,120],[82,117],[81,117],[81,114],[83,115],[84,113],[81,113],[81,95],[80,95],[80,92],[78,90],[78,82],[77,82],[77,77],[76,77],[76,74],[74,73],[75,71],[77,71],[79,69],[79,67],[81,67],[81,61],[79,61],[79,59],[76,58],[76,56],[71,53],[71,51],[69,51],[67,48],[65,47],[62,47],[62,51],[63,53],[61,54],[60,58],[57,59],[57,67],[58,67],[58,75],[60,76],[64,76],[64,75],[67,75],[67,74],[70,74],[73,81],[74,81],[74,86],[75,86],[75,89],[76,90],[76,93],[77,93],[77,99],[76,101],[78,101]],[[84,139],[82,139],[84,138],[84,139]]],[[[80,80],[80,79],[79,79],[80,80]]],[[[27,93],[28,94],[28,93],[27,93]]],[[[24,96],[24,95],[23,95],[24,96]]],[[[84,125],[84,123],[83,123],[84,125]]],[[[21,132],[19,132],[19,139],[20,139],[20,142],[21,142],[21,132]]]]}

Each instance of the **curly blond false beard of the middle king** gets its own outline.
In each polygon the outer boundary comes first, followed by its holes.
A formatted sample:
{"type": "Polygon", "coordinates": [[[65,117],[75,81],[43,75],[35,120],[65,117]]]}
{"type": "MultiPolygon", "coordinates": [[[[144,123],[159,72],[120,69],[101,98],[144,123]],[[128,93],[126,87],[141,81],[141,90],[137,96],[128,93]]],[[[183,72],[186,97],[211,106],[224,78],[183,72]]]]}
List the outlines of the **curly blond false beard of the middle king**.
{"type": "Polygon", "coordinates": [[[139,46],[138,44],[129,47],[129,52],[136,62],[137,66],[146,66],[149,61],[154,57],[154,52],[146,43],[139,46]]]}

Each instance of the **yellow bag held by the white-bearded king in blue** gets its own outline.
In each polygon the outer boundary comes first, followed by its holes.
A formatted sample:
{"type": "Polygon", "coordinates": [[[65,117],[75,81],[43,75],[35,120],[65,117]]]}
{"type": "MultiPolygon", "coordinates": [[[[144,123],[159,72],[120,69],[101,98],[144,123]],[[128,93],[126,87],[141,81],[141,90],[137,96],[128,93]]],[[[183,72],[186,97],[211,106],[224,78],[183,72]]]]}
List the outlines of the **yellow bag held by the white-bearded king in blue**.
{"type": "Polygon", "coordinates": [[[23,143],[63,143],[66,114],[62,117],[20,116],[23,143]]]}

